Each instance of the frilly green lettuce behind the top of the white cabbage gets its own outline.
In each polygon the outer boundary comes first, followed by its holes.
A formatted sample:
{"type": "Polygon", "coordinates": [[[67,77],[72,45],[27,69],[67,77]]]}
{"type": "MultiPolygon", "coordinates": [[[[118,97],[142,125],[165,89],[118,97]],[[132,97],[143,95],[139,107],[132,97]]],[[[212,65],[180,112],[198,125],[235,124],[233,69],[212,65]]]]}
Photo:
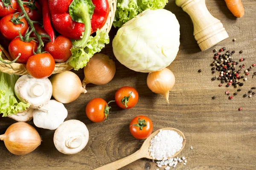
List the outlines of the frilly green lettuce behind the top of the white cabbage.
{"type": "Polygon", "coordinates": [[[161,9],[166,3],[168,0],[117,0],[113,26],[121,27],[146,9],[161,9]]]}

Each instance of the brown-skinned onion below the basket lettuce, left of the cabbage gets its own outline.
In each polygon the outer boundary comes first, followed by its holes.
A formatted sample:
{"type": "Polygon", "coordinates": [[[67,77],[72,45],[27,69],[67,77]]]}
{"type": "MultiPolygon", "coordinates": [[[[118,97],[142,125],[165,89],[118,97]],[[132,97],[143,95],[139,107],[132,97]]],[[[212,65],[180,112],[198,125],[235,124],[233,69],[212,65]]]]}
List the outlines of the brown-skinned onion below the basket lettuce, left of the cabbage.
{"type": "Polygon", "coordinates": [[[105,85],[110,82],[116,73],[116,65],[105,54],[94,54],[84,67],[83,86],[88,83],[105,85]]]}

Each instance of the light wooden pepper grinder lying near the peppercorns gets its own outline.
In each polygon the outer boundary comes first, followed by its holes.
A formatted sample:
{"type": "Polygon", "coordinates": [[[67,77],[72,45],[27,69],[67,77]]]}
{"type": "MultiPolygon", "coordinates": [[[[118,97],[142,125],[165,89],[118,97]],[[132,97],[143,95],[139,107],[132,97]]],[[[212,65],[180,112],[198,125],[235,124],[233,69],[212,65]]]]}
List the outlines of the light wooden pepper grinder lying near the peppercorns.
{"type": "Polygon", "coordinates": [[[176,0],[175,2],[191,17],[195,40],[202,51],[228,38],[221,21],[209,13],[205,0],[176,0]]]}

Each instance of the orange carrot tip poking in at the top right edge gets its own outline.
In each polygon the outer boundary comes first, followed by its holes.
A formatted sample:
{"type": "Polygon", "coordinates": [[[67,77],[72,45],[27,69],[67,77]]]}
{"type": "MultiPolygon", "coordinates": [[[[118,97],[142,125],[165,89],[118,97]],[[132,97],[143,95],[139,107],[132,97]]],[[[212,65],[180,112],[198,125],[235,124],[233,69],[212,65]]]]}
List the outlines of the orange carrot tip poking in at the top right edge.
{"type": "Polygon", "coordinates": [[[225,0],[227,8],[232,12],[233,15],[240,18],[244,16],[244,6],[241,0],[225,0]]]}

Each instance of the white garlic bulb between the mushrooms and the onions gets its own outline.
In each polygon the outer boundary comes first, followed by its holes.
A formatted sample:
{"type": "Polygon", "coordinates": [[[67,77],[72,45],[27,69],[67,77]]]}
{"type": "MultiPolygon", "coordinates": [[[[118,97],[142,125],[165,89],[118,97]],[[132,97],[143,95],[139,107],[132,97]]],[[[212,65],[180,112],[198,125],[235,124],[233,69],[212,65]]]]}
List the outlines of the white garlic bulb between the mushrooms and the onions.
{"type": "Polygon", "coordinates": [[[33,117],[37,127],[55,130],[67,118],[67,109],[61,102],[50,100],[40,110],[35,109],[33,117]]]}

